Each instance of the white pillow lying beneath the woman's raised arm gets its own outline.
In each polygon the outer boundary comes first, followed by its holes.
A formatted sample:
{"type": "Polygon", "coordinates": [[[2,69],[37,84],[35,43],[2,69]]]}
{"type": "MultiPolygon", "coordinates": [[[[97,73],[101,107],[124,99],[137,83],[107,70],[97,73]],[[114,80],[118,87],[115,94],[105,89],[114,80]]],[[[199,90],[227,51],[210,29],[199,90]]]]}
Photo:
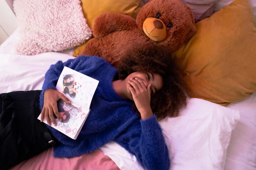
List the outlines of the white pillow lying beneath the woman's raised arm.
{"type": "MultiPolygon", "coordinates": [[[[239,111],[191,98],[180,116],[161,120],[171,170],[223,170],[239,111]]],[[[100,150],[121,169],[144,169],[134,155],[111,142],[100,150]]]]}

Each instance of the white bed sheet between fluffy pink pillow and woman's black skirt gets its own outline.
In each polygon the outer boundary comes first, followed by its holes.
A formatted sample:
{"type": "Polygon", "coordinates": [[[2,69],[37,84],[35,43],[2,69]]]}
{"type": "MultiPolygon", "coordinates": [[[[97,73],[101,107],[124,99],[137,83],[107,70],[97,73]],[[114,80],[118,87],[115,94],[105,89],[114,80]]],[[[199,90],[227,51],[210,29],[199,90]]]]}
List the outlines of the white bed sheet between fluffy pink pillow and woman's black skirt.
{"type": "Polygon", "coordinates": [[[0,46],[0,93],[42,90],[44,74],[51,64],[73,57],[73,49],[45,52],[34,56],[17,55],[14,46],[19,39],[17,29],[0,46]]]}

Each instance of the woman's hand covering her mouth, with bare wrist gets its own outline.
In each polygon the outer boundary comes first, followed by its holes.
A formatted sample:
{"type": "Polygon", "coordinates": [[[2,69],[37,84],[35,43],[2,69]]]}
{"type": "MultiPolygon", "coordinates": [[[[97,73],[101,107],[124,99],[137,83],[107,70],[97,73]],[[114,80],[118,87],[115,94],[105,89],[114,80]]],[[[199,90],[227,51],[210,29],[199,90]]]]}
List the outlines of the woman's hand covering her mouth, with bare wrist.
{"type": "Polygon", "coordinates": [[[141,114],[142,120],[153,116],[152,109],[150,107],[150,86],[145,86],[144,82],[140,78],[130,79],[128,83],[132,86],[128,86],[131,91],[134,103],[141,114]]]}

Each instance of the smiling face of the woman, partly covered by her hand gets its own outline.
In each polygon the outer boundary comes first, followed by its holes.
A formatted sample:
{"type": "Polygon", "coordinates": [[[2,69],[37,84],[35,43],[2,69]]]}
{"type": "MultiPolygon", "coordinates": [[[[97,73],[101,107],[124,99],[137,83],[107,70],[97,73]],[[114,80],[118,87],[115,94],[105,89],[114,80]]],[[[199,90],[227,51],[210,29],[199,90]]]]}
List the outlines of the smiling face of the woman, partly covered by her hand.
{"type": "Polygon", "coordinates": [[[134,73],[130,74],[124,80],[126,83],[126,90],[128,93],[127,97],[132,101],[133,101],[132,94],[131,94],[130,90],[128,89],[128,86],[130,86],[128,81],[131,78],[140,78],[144,82],[145,87],[147,87],[149,84],[151,84],[151,86],[150,86],[151,96],[154,95],[157,91],[160,91],[163,87],[163,79],[160,74],[134,72],[134,73]]]}

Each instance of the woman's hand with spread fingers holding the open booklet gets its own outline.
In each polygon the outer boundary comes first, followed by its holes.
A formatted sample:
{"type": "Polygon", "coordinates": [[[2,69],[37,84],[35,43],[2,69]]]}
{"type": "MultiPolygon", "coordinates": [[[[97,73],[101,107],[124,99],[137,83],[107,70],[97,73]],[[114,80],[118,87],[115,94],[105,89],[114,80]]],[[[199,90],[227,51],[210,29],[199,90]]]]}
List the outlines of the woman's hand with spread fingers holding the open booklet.
{"type": "Polygon", "coordinates": [[[50,119],[52,120],[53,124],[57,126],[57,123],[55,121],[53,114],[55,114],[57,118],[60,121],[62,121],[58,111],[58,107],[57,107],[57,101],[60,99],[64,100],[66,103],[69,103],[69,104],[71,103],[68,100],[68,98],[64,96],[64,94],[58,92],[55,89],[48,89],[44,92],[44,103],[43,103],[43,109],[41,112],[41,122],[43,121],[43,118],[45,116],[49,126],[51,125],[50,119]]]}

